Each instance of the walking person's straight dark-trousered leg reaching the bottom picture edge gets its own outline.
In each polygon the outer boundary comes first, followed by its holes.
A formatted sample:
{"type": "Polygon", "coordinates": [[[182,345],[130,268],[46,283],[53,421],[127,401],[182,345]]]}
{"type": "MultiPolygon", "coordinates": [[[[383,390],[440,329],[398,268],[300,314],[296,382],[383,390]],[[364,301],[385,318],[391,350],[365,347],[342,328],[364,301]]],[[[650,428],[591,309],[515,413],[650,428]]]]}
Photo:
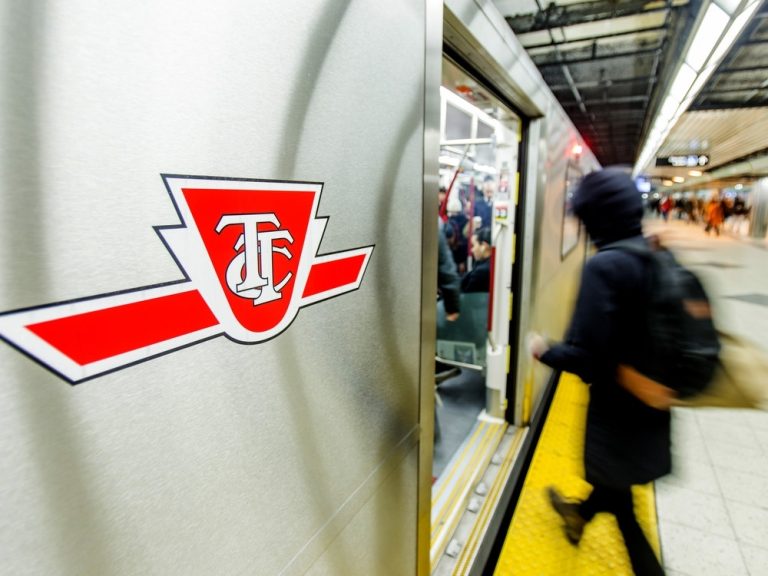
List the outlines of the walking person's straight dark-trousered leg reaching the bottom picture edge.
{"type": "Polygon", "coordinates": [[[632,491],[606,488],[601,497],[606,509],[616,516],[635,575],[663,576],[664,569],[635,518],[632,491]]]}

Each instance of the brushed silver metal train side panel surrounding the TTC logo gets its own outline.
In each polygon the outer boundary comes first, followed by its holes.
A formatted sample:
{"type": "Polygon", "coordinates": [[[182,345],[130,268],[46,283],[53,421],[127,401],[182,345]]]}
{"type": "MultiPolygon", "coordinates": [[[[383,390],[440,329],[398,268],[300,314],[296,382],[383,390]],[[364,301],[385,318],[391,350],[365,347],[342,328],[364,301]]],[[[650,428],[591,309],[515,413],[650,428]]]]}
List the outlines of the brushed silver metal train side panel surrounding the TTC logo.
{"type": "Polygon", "coordinates": [[[414,573],[424,5],[0,13],[0,311],[181,278],[163,172],[321,181],[321,252],[376,246],[360,290],[264,344],[75,387],[2,345],[4,569],[358,574],[354,541],[367,574],[414,573]]]}

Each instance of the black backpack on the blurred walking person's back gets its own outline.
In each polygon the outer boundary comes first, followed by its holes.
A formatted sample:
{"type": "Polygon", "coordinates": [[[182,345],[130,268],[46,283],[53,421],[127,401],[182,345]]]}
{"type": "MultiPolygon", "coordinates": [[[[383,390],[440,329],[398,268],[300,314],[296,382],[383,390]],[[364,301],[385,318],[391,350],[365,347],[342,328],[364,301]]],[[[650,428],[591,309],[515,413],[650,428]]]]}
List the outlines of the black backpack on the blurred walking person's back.
{"type": "Polygon", "coordinates": [[[704,390],[718,366],[720,341],[699,279],[664,248],[622,240],[603,250],[623,250],[649,263],[643,303],[648,354],[635,369],[683,398],[704,390]]]}

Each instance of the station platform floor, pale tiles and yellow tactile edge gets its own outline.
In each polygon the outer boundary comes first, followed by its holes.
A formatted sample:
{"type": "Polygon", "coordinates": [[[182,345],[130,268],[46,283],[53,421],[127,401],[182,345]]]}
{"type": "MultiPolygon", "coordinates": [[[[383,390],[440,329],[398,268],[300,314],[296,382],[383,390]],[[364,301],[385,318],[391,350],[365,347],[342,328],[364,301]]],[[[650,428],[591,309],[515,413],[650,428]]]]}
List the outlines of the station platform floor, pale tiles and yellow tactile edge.
{"type": "MultiPolygon", "coordinates": [[[[645,227],[702,279],[716,324],[768,352],[768,244],[727,232],[707,236],[683,221],[645,227]]],[[[544,496],[550,484],[574,497],[589,490],[580,479],[586,400],[577,378],[561,379],[496,576],[632,574],[613,517],[598,515],[573,547],[544,496]]],[[[675,408],[672,435],[673,473],[635,492],[637,516],[666,574],[768,576],[768,411],[675,408]]]]}

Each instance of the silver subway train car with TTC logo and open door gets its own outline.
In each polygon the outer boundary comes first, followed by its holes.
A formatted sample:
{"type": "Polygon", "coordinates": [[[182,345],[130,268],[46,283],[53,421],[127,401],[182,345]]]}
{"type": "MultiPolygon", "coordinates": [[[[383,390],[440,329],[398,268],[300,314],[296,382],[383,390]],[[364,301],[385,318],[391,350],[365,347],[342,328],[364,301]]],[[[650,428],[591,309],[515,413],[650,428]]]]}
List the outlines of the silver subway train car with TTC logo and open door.
{"type": "Polygon", "coordinates": [[[5,0],[0,29],[4,572],[480,573],[598,167],[494,6],[5,0]],[[458,320],[439,234],[488,260],[458,320]]]}

